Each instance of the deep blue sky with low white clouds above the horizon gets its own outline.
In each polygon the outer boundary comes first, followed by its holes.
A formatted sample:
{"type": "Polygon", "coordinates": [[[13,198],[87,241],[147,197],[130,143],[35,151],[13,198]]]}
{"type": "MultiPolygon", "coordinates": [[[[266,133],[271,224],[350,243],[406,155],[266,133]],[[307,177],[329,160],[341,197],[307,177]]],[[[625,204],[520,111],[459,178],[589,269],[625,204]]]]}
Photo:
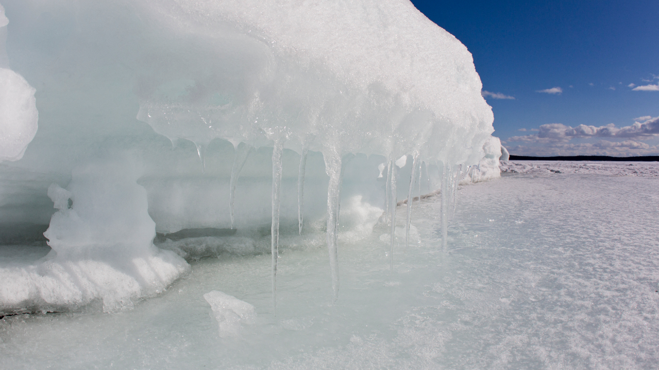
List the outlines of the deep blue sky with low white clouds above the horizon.
{"type": "Polygon", "coordinates": [[[473,54],[511,153],[659,155],[659,1],[412,2],[473,54]]]}

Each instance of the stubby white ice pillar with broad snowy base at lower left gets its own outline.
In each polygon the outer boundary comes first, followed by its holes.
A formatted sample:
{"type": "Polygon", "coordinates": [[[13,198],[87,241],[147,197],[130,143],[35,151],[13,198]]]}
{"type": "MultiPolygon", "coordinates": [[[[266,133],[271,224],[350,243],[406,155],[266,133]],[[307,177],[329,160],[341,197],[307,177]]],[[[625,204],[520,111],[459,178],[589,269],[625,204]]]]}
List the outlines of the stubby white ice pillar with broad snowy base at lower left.
{"type": "Polygon", "coordinates": [[[139,175],[121,161],[89,163],[73,171],[66,189],[51,184],[48,196],[58,211],[44,235],[52,250],[33,265],[0,269],[0,311],[94,304],[117,311],[186,273],[185,260],[152,243],[156,225],[139,175]]]}

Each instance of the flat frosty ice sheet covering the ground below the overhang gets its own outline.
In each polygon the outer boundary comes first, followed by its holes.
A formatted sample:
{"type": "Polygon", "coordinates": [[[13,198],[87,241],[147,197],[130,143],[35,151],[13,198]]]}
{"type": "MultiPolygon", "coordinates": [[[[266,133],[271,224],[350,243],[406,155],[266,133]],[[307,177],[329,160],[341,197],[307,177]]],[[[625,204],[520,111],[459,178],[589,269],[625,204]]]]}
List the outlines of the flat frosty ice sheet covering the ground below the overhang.
{"type": "Polygon", "coordinates": [[[393,274],[381,233],[339,242],[335,305],[324,248],[280,252],[276,316],[270,255],[203,259],[129,311],[5,317],[0,367],[654,369],[658,181],[552,173],[463,186],[448,255],[428,198],[393,274]],[[220,338],[212,290],[256,307],[238,338],[220,338]]]}

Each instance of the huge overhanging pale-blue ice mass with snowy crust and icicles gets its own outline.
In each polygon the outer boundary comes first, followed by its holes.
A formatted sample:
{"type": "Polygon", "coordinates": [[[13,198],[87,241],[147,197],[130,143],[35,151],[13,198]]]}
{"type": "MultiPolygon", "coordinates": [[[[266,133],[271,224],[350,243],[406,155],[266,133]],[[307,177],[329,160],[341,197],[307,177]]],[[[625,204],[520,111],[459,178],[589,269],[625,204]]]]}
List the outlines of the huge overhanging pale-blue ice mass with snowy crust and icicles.
{"type": "MultiPolygon", "coordinates": [[[[323,230],[337,298],[341,199],[386,210],[391,251],[397,199],[415,184],[441,184],[447,219],[459,171],[478,165],[493,131],[471,54],[407,0],[3,5],[16,19],[8,61],[38,87],[42,127],[16,177],[54,181],[89,157],[133,151],[144,174],[130,186],[146,189],[155,229],[237,230],[260,251],[268,238],[273,298],[281,242],[323,230]]],[[[0,222],[47,219],[46,189],[31,191],[20,207],[35,211],[17,217],[0,204],[0,222]]],[[[98,225],[101,215],[73,223],[58,205],[51,228],[66,223],[70,234],[51,231],[51,243],[96,246],[102,232],[84,222],[98,225]]],[[[144,207],[133,211],[144,216],[144,207]]],[[[146,239],[138,244],[152,248],[146,239]]],[[[185,242],[165,244],[198,255],[185,242]]]]}

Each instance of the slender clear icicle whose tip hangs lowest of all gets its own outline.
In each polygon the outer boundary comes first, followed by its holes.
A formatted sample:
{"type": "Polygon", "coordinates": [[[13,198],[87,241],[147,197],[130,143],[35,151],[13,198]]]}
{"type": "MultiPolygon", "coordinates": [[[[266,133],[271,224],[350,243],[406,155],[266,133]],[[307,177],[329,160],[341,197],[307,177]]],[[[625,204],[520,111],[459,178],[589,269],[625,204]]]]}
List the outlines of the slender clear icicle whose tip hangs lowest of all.
{"type": "Polygon", "coordinates": [[[284,138],[275,138],[272,148],[272,306],[277,309],[277,259],[279,258],[279,191],[281,188],[281,155],[284,138]]]}

